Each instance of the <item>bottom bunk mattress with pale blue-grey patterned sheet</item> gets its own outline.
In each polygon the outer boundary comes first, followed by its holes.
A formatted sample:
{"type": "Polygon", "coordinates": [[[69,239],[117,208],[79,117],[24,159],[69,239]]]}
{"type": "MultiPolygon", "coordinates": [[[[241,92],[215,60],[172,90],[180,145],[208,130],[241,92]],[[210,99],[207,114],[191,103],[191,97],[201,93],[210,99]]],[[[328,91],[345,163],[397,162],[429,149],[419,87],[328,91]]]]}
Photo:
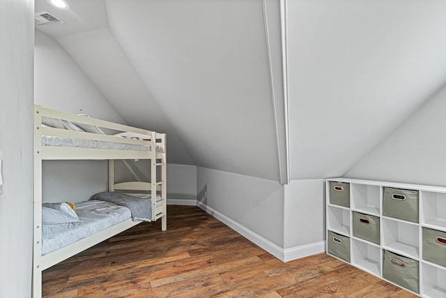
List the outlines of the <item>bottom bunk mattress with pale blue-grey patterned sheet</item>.
{"type": "Polygon", "coordinates": [[[42,225],[42,255],[132,218],[127,207],[90,200],[76,203],[79,222],[42,225]]]}

